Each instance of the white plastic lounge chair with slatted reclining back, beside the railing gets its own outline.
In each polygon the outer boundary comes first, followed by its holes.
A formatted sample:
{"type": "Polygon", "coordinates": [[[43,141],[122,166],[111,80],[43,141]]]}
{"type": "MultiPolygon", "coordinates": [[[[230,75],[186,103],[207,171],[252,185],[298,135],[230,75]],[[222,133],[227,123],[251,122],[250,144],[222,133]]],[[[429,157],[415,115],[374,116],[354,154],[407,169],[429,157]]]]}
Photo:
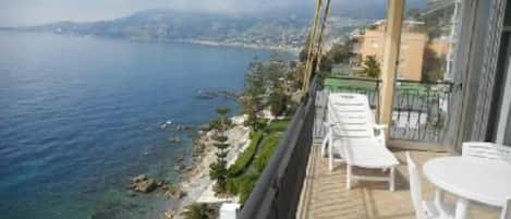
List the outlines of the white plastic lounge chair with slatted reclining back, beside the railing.
{"type": "Polygon", "coordinates": [[[333,169],[334,154],[346,162],[346,188],[353,181],[384,181],[389,190],[394,190],[394,169],[398,159],[385,145],[382,129],[377,125],[369,108],[367,96],[360,94],[334,93],[328,97],[327,136],[321,154],[328,145],[328,162],[333,169]],[[375,131],[379,131],[375,133],[375,131]],[[357,175],[352,167],[390,170],[388,177],[357,175]]]}

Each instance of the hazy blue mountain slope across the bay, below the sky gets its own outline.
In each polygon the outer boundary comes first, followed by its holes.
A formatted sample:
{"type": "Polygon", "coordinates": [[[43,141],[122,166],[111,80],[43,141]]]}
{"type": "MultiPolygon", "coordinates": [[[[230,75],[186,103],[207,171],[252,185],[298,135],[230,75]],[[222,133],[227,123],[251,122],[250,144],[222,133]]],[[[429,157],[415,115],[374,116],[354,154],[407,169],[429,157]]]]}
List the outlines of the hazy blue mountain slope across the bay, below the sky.
{"type": "MultiPolygon", "coordinates": [[[[409,8],[423,8],[424,1],[411,0],[409,8]]],[[[385,16],[387,1],[358,0],[336,4],[332,1],[328,35],[338,37],[385,16]]],[[[59,22],[41,26],[17,27],[17,31],[47,32],[63,35],[101,36],[136,40],[190,41],[224,44],[283,45],[300,47],[311,26],[314,5],[297,3],[290,8],[268,9],[257,13],[182,12],[146,10],[100,22],[59,22]]]]}

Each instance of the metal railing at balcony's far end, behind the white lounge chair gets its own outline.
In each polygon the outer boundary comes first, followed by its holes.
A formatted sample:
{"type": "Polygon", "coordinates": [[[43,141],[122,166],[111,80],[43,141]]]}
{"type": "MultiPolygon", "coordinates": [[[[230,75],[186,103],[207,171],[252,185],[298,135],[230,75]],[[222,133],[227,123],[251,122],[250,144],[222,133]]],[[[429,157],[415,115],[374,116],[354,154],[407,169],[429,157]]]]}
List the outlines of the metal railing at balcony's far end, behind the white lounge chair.
{"type": "MultiPolygon", "coordinates": [[[[365,94],[378,118],[381,81],[360,77],[333,77],[325,81],[325,90],[365,94]],[[337,85],[336,85],[337,84],[337,85]]],[[[440,143],[445,137],[452,83],[425,83],[398,80],[393,98],[391,138],[440,143]]]]}

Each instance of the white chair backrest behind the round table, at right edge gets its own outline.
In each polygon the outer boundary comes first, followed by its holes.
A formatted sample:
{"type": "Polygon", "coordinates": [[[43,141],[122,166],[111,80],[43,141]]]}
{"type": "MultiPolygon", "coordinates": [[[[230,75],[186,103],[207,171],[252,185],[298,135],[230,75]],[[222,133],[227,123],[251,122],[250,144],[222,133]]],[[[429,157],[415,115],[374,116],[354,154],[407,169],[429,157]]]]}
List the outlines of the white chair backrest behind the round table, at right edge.
{"type": "Polygon", "coordinates": [[[462,145],[462,156],[511,162],[511,147],[486,142],[466,142],[462,145]]]}

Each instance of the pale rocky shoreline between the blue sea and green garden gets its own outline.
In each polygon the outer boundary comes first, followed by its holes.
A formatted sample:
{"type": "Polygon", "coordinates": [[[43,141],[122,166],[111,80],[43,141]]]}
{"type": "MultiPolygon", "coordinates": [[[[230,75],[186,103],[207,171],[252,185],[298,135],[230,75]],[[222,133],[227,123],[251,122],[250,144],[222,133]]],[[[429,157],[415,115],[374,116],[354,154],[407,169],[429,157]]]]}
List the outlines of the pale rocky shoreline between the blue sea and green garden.
{"type": "MultiPolygon", "coordinates": [[[[244,117],[231,118],[232,126],[227,131],[229,136],[230,151],[227,157],[228,163],[233,163],[248,145],[250,129],[243,125],[244,117]]],[[[183,126],[180,130],[191,130],[183,126]],[[185,127],[185,129],[184,129],[185,127]]],[[[181,218],[181,214],[186,206],[195,203],[216,204],[222,202],[236,202],[238,197],[216,197],[212,192],[214,181],[209,179],[209,166],[216,160],[216,147],[212,146],[211,137],[215,131],[208,124],[197,127],[197,137],[194,141],[193,151],[187,159],[187,155],[180,155],[174,163],[174,170],[179,174],[179,180],[172,184],[160,179],[153,179],[145,174],[139,174],[130,179],[129,194],[135,196],[137,193],[162,193],[169,198],[168,209],[162,209],[163,219],[181,218]]],[[[178,143],[170,137],[170,143],[178,143]]]]}

